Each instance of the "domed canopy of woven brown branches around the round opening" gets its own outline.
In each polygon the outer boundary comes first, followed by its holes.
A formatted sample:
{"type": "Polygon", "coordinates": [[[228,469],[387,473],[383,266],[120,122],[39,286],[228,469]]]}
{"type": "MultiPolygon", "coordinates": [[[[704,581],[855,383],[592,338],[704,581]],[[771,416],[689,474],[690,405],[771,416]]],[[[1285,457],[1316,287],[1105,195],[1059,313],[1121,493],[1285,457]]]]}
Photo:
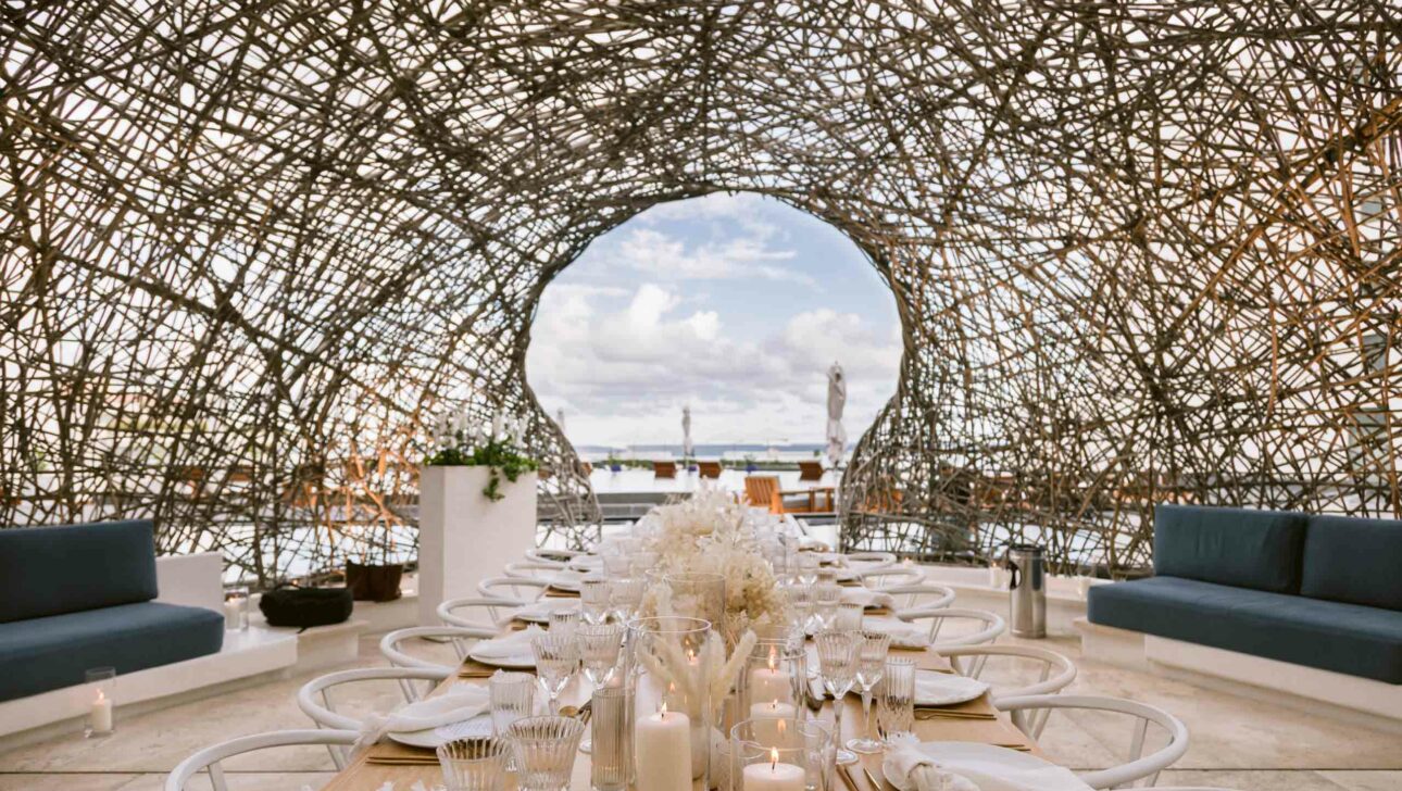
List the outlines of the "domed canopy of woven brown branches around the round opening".
{"type": "Polygon", "coordinates": [[[0,34],[0,525],[153,516],[259,581],[412,557],[467,400],[527,417],[579,540],[541,290],[722,189],[896,296],[850,547],[1129,568],[1155,502],[1402,512],[1385,0],[70,0],[0,34]]]}

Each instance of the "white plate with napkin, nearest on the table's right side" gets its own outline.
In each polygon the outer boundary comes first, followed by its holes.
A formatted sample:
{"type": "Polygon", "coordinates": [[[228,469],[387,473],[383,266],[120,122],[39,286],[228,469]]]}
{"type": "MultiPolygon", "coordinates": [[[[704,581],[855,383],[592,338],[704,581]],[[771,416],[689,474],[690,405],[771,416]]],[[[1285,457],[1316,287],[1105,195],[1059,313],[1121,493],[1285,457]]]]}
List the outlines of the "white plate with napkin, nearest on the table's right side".
{"type": "MultiPolygon", "coordinates": [[[[995,753],[997,755],[997,753],[995,753]]],[[[1008,752],[1008,760],[965,757],[938,763],[920,750],[920,739],[904,733],[892,738],[882,760],[886,780],[900,791],[1091,791],[1068,769],[1008,752]]]]}

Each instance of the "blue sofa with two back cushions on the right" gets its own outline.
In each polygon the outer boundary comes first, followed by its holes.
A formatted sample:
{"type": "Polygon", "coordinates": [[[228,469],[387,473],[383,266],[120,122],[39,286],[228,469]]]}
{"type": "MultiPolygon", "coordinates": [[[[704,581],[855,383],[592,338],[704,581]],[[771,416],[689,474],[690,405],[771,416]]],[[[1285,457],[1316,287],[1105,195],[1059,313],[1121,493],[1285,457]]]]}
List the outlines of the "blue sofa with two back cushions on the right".
{"type": "Polygon", "coordinates": [[[1087,618],[1402,684],[1402,522],[1158,505],[1154,576],[1087,618]]]}

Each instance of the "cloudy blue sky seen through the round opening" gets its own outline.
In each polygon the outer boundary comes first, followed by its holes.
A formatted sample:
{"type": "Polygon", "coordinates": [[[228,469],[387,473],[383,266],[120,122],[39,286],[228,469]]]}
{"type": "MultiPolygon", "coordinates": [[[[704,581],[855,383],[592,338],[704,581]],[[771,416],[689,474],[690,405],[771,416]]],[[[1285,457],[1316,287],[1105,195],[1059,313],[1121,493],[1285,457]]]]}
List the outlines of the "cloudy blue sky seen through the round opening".
{"type": "Polygon", "coordinates": [[[751,194],[662,203],[599,237],[541,297],[526,372],[575,445],[820,443],[827,367],[852,442],[896,388],[890,290],[822,220],[751,194]]]}

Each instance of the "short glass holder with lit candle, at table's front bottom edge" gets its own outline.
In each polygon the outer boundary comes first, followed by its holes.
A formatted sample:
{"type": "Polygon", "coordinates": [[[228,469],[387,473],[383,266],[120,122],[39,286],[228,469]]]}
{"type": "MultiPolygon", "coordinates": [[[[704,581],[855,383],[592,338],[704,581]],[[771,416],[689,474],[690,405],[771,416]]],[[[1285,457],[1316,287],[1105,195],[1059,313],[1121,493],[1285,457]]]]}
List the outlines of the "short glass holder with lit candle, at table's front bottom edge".
{"type": "Polygon", "coordinates": [[[833,778],[831,732],[802,719],[746,719],[730,728],[733,791],[826,791],[833,778]]]}

